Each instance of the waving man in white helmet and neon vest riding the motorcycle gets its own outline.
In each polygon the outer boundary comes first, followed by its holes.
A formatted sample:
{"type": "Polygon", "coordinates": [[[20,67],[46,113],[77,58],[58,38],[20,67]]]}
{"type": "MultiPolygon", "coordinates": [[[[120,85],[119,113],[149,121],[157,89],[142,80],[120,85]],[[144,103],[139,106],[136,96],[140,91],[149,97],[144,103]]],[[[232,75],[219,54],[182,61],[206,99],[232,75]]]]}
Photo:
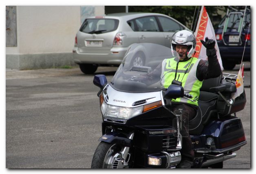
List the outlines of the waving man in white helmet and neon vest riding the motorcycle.
{"type": "MultiPolygon", "coordinates": [[[[201,40],[201,43],[206,48],[208,61],[193,57],[196,38],[190,31],[181,30],[174,33],[170,42],[171,49],[177,51],[179,56],[163,60],[161,82],[165,88],[168,88],[171,84],[181,85],[185,93],[193,96],[192,101],[185,98],[172,99],[174,106],[172,111],[183,111],[182,118],[187,120],[187,124],[184,124],[184,126],[188,130],[188,121],[197,112],[199,90],[203,80],[220,76],[222,74],[221,67],[216,56],[215,41],[212,39],[206,37],[205,41],[201,40]]],[[[190,168],[194,159],[192,141],[187,131],[186,133],[187,135],[185,135],[184,131],[183,133],[181,131],[183,138],[179,168],[190,168]]]]}

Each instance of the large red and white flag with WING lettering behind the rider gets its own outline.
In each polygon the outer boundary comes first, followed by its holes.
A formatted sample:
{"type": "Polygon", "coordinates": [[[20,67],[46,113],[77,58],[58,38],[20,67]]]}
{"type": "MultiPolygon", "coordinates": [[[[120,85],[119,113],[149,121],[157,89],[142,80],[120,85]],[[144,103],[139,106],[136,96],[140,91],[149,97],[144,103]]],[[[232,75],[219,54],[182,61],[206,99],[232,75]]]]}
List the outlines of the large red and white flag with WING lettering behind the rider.
{"type": "Polygon", "coordinates": [[[221,65],[221,70],[223,70],[221,54],[218,49],[215,32],[212,26],[212,22],[204,6],[202,6],[199,21],[196,26],[196,32],[194,35],[196,37],[196,53],[194,54],[194,57],[207,60],[208,58],[206,56],[206,48],[202,45],[200,40],[205,40],[205,37],[208,37],[208,39],[214,39],[216,42],[215,49],[217,50],[218,63],[221,65]]]}

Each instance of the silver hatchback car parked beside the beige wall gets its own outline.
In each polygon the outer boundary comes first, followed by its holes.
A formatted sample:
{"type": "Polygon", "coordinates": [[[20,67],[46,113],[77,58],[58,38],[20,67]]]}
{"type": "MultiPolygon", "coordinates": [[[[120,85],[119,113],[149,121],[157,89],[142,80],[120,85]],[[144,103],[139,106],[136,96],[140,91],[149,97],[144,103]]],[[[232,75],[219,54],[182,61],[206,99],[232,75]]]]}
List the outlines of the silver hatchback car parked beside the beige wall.
{"type": "MultiPolygon", "coordinates": [[[[73,59],[85,74],[98,66],[119,66],[133,43],[170,47],[178,30],[189,30],[172,17],[159,13],[113,13],[88,17],[75,37],[73,59]]],[[[133,65],[143,66],[145,54],[137,52],[133,65]]]]}

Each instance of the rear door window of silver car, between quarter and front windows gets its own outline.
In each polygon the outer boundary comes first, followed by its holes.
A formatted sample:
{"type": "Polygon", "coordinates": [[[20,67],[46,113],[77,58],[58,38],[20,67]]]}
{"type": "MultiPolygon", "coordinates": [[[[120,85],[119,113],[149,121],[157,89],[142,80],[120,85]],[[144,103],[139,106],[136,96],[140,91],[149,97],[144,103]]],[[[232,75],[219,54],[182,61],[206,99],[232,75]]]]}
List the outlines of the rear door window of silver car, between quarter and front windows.
{"type": "Polygon", "coordinates": [[[136,31],[159,31],[157,21],[154,16],[141,17],[135,19],[136,31]]]}

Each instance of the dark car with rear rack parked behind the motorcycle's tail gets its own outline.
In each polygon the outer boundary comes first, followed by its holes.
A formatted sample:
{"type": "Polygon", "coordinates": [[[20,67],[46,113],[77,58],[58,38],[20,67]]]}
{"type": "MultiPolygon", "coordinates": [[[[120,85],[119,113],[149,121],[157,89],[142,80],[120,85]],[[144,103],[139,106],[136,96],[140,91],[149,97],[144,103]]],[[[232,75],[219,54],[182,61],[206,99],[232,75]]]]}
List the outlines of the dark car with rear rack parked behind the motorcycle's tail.
{"type": "Polygon", "coordinates": [[[242,57],[243,61],[250,61],[251,59],[251,30],[249,28],[251,13],[247,8],[243,17],[244,11],[230,12],[227,15],[227,19],[225,20],[226,17],[224,17],[215,30],[216,40],[225,70],[232,70],[236,64],[240,64],[242,57]],[[247,43],[245,45],[246,39],[247,43]],[[245,52],[243,56],[244,48],[245,52]]]}

